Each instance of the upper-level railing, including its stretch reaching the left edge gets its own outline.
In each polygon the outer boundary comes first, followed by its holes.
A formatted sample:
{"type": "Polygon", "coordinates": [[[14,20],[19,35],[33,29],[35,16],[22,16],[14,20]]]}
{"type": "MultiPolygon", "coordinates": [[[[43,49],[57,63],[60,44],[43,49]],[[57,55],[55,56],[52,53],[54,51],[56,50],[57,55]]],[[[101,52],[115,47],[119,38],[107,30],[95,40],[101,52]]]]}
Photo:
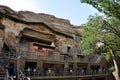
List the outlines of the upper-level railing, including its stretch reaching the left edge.
{"type": "MultiPolygon", "coordinates": [[[[55,52],[56,53],[56,52],[55,52]]],[[[8,58],[17,58],[18,56],[28,57],[28,58],[36,58],[36,59],[43,59],[43,60],[49,60],[49,61],[59,61],[59,62],[88,62],[85,58],[80,57],[69,57],[64,55],[56,55],[53,53],[52,55],[45,55],[44,52],[29,52],[29,51],[20,51],[16,54],[13,54],[11,52],[3,52],[2,55],[8,57],[8,58]]]]}

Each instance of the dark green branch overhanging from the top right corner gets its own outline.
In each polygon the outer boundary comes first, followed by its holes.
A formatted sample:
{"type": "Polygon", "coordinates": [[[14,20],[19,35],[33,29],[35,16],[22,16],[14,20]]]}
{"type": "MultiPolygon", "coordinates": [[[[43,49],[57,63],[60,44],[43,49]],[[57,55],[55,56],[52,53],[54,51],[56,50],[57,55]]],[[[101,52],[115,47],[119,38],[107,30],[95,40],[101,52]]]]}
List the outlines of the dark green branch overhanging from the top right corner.
{"type": "Polygon", "coordinates": [[[95,7],[98,11],[107,16],[113,16],[120,19],[120,0],[80,0],[95,7]]]}

